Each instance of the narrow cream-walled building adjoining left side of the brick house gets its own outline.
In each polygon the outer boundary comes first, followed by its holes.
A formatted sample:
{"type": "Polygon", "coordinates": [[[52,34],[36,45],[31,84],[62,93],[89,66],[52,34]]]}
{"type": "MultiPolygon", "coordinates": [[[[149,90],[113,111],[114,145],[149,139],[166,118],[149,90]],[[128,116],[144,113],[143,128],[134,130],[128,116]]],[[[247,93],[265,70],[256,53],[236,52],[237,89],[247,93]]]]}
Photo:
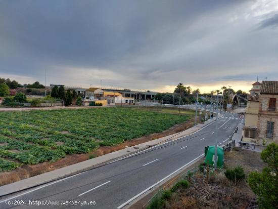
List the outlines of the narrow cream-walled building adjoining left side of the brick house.
{"type": "Polygon", "coordinates": [[[243,141],[256,143],[256,131],[259,114],[259,96],[248,96],[245,109],[245,126],[243,127],[243,141]]]}

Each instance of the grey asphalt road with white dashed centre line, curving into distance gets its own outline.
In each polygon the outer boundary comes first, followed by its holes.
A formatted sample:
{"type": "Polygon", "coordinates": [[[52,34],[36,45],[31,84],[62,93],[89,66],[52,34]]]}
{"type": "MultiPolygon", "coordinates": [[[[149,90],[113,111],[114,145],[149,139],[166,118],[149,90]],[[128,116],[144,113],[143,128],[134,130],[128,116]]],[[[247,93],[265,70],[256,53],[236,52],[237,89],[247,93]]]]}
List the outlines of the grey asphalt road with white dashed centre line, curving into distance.
{"type": "MultiPolygon", "coordinates": [[[[218,144],[228,142],[239,121],[238,115],[224,113],[218,121],[218,144]]],[[[216,122],[212,122],[192,135],[7,197],[8,201],[0,200],[0,208],[121,208],[136,195],[202,155],[205,146],[215,144],[215,130],[216,122]],[[32,200],[40,201],[41,205],[32,200]],[[56,205],[52,205],[55,201],[56,205]],[[86,201],[91,204],[81,206],[79,202],[79,205],[65,205],[62,201],[86,201]],[[42,202],[48,205],[42,205],[42,202]]]]}

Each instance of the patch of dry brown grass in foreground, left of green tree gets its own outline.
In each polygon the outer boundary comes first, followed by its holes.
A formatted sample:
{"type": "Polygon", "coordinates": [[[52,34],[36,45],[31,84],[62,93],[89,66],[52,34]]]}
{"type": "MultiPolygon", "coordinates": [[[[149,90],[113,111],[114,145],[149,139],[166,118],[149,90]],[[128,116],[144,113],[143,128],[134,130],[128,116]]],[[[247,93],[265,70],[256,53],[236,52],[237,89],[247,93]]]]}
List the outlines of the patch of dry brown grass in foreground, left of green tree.
{"type": "Polygon", "coordinates": [[[247,208],[254,198],[246,182],[235,185],[223,174],[211,176],[207,182],[206,177],[198,175],[190,188],[174,193],[165,208],[247,208]]]}

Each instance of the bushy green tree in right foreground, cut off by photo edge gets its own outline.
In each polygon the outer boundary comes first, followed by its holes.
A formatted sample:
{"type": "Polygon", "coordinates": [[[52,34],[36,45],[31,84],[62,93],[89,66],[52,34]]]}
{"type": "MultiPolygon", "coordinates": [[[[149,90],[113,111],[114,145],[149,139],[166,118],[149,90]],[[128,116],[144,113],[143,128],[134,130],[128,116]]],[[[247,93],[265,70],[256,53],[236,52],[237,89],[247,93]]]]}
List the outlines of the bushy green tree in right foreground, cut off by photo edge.
{"type": "Polygon", "coordinates": [[[262,173],[251,172],[248,184],[258,196],[261,208],[277,208],[278,205],[278,145],[269,144],[261,153],[261,159],[267,163],[262,173]]]}

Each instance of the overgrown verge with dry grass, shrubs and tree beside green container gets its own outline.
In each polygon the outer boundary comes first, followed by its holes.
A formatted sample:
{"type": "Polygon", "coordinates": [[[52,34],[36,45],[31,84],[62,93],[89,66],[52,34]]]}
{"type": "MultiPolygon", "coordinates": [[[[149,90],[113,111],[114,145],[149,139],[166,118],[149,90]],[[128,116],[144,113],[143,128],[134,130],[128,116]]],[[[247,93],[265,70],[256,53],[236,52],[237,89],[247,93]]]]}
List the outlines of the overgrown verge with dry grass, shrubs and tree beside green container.
{"type": "Polygon", "coordinates": [[[147,208],[277,208],[278,145],[268,145],[261,154],[236,148],[225,159],[225,172],[200,170],[189,182],[157,193],[147,208]]]}

